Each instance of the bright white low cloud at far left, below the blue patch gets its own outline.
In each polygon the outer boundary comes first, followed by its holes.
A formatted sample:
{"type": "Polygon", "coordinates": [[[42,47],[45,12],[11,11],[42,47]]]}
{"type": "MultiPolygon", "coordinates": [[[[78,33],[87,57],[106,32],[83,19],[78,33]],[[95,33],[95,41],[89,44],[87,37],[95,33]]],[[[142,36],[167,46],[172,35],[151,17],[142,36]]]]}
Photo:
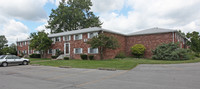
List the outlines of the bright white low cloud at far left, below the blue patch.
{"type": "Polygon", "coordinates": [[[0,35],[5,35],[9,41],[8,44],[16,43],[17,40],[27,39],[29,36],[29,29],[21,22],[9,20],[0,28],[0,35]]]}

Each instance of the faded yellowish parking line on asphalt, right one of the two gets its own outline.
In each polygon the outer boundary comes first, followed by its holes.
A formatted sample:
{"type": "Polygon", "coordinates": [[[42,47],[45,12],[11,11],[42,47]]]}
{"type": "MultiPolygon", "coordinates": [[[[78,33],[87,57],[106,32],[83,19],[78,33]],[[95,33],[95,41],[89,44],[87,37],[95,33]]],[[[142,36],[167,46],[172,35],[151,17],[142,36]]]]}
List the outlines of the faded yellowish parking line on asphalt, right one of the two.
{"type": "Polygon", "coordinates": [[[87,85],[87,84],[96,83],[96,82],[99,82],[99,81],[102,81],[102,80],[105,80],[105,79],[110,79],[110,78],[122,75],[122,74],[124,74],[124,73],[126,73],[128,71],[130,71],[130,70],[126,70],[126,71],[122,71],[122,72],[119,72],[119,73],[116,73],[116,74],[112,74],[110,76],[106,76],[106,77],[103,77],[101,79],[97,79],[97,80],[94,80],[94,81],[89,81],[89,82],[85,82],[85,83],[82,83],[82,84],[78,84],[78,85],[75,85],[75,87],[81,87],[81,86],[84,86],[84,85],[87,85]]]}

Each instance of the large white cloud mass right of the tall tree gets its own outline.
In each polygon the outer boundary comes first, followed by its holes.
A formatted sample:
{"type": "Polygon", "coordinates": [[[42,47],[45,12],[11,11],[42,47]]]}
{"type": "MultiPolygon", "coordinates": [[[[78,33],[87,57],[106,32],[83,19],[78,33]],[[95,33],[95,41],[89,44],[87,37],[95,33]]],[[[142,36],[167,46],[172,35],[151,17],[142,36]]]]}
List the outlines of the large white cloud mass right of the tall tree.
{"type": "MultiPolygon", "coordinates": [[[[96,1],[96,0],[93,0],[96,1]]],[[[120,0],[124,6],[109,8],[105,2],[95,2],[95,12],[100,12],[103,28],[129,33],[152,27],[181,29],[184,32],[199,31],[200,0],[120,0]],[[127,16],[115,10],[129,7],[127,16]]],[[[107,1],[106,1],[107,3],[107,1]]],[[[109,2],[108,2],[109,3],[109,2]]],[[[109,3],[111,6],[119,1],[109,3]]]]}

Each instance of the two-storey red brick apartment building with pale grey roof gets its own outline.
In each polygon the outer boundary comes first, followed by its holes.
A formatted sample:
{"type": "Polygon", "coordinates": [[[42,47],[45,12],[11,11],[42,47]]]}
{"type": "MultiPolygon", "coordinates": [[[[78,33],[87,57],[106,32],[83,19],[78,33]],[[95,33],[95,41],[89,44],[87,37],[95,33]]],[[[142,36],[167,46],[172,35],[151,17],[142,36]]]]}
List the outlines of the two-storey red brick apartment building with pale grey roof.
{"type": "MultiPolygon", "coordinates": [[[[124,52],[127,56],[132,56],[130,48],[135,44],[143,44],[146,47],[144,55],[146,58],[151,58],[151,50],[162,43],[179,42],[181,48],[186,47],[186,38],[177,30],[151,28],[130,34],[123,34],[112,30],[92,27],[48,35],[53,43],[48,50],[47,57],[51,58],[52,55],[55,55],[56,51],[60,50],[65,56],[69,56],[72,59],[80,59],[80,54],[94,55],[95,59],[100,59],[98,48],[92,49],[90,45],[86,43],[89,39],[98,34],[114,36],[120,45],[120,47],[115,50],[106,49],[103,55],[105,59],[114,58],[119,52],[124,52]]],[[[25,55],[39,53],[29,49],[30,40],[31,39],[27,39],[17,42],[18,55],[21,53],[25,55]]]]}

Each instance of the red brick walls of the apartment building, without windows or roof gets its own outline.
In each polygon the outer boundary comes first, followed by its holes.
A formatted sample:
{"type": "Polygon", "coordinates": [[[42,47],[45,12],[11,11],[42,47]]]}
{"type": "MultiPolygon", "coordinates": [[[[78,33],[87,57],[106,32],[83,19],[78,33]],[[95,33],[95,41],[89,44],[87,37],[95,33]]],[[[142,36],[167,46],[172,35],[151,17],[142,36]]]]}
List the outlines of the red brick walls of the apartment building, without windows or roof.
{"type": "MultiPolygon", "coordinates": [[[[173,42],[173,33],[138,35],[138,36],[123,36],[109,32],[104,32],[104,34],[108,36],[114,36],[118,40],[120,45],[120,47],[115,50],[106,49],[103,55],[104,59],[112,59],[121,51],[126,53],[127,56],[133,56],[131,54],[130,48],[135,44],[143,44],[146,47],[145,57],[150,58],[152,56],[151,53],[152,49],[155,49],[158,45],[162,43],[173,42]]],[[[70,41],[63,41],[63,36],[61,36],[61,41],[52,44],[51,49],[61,49],[61,51],[64,52],[64,43],[70,43],[70,57],[72,59],[81,59],[80,54],[74,54],[74,48],[82,48],[83,54],[88,54],[88,48],[90,47],[90,45],[84,42],[84,39],[88,39],[87,36],[88,36],[87,33],[83,33],[81,40],[74,40],[74,35],[71,35],[70,41]]],[[[174,41],[177,42],[177,39],[175,39],[174,41]]],[[[26,44],[25,46],[22,45],[22,47],[18,45],[17,49],[20,51],[27,50],[28,52],[28,44],[26,44]]],[[[95,59],[100,59],[100,54],[88,54],[88,55],[94,55],[95,59]]],[[[51,56],[52,54],[47,53],[48,58],[51,58],[51,56]]]]}

